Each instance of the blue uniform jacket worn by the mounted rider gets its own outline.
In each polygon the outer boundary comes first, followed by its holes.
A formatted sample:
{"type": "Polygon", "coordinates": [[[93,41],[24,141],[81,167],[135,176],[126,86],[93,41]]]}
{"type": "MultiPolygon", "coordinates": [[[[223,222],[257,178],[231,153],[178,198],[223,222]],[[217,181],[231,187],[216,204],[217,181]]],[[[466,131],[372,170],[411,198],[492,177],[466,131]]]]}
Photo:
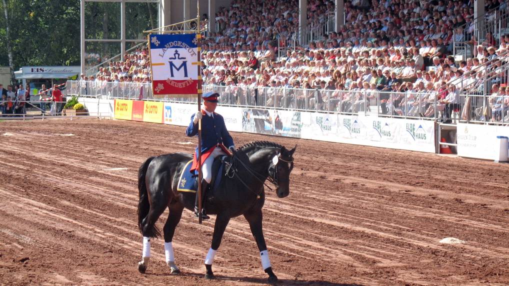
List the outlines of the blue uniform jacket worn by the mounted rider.
{"type": "MultiPolygon", "coordinates": [[[[193,119],[194,114],[191,116],[191,123],[186,129],[186,135],[189,137],[198,134],[198,124],[194,124],[193,119]]],[[[234,146],[233,138],[224,125],[223,117],[214,112],[214,118],[212,118],[205,113],[202,117],[202,153],[207,152],[217,144],[223,144],[227,148],[234,146]]],[[[198,147],[195,151],[198,152],[198,147]]]]}

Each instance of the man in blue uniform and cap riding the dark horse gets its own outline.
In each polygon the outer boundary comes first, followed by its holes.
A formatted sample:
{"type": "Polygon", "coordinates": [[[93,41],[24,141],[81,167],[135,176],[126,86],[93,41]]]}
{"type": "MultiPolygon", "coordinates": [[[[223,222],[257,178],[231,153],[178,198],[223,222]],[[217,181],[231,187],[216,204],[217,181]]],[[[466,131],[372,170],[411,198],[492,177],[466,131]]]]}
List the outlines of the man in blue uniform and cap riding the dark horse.
{"type": "MultiPolygon", "coordinates": [[[[218,93],[208,92],[203,95],[204,109],[196,112],[191,116],[191,123],[186,130],[186,135],[191,137],[198,133],[198,122],[202,120],[202,199],[205,196],[207,187],[212,180],[212,163],[214,158],[220,155],[231,154],[230,152],[235,151],[235,145],[233,144],[233,138],[228,133],[226,126],[224,125],[224,119],[218,113],[214,112],[217,107],[218,93]],[[228,147],[228,149],[227,149],[228,147]]],[[[194,153],[193,162],[191,166],[191,172],[197,170],[198,161],[197,155],[198,147],[194,153]]],[[[198,192],[196,192],[196,199],[194,201],[194,213],[198,215],[198,192]]],[[[205,208],[202,212],[203,219],[209,219],[210,217],[205,213],[205,208]]]]}

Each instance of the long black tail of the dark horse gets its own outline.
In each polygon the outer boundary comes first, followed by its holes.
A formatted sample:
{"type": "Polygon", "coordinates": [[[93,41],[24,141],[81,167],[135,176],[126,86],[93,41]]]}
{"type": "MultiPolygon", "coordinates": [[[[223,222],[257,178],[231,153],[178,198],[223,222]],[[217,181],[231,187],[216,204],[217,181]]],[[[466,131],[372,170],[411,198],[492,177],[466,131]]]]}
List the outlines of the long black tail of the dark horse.
{"type": "Polygon", "coordinates": [[[147,224],[144,219],[148,216],[149,210],[150,210],[150,202],[149,202],[149,194],[147,191],[147,184],[145,183],[145,176],[147,175],[147,169],[149,167],[150,162],[155,157],[148,158],[142,166],[139,167],[138,170],[138,193],[139,193],[139,202],[138,202],[138,228],[139,231],[144,235],[148,237],[159,237],[161,234],[157,227],[155,227],[154,224],[145,225],[147,224]],[[149,228],[149,229],[147,229],[149,228]]]}

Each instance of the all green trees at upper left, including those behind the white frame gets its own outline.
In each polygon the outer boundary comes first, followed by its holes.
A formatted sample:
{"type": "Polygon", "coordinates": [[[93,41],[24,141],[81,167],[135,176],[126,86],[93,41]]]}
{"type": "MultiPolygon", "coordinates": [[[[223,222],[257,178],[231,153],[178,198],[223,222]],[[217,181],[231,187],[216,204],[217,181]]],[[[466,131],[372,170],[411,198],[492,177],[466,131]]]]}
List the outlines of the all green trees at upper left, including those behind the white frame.
{"type": "MultiPolygon", "coordinates": [[[[9,65],[7,24],[10,27],[14,69],[18,70],[22,66],[80,65],[79,0],[5,0],[5,2],[9,23],[3,15],[3,2],[0,2],[2,11],[0,66],[9,65]]],[[[88,39],[120,39],[119,3],[87,2],[85,9],[88,39]]],[[[143,30],[154,27],[153,19],[157,19],[157,5],[127,3],[126,18],[127,39],[139,39],[143,36],[143,30]]],[[[107,45],[100,44],[101,49],[105,50],[107,45]]]]}

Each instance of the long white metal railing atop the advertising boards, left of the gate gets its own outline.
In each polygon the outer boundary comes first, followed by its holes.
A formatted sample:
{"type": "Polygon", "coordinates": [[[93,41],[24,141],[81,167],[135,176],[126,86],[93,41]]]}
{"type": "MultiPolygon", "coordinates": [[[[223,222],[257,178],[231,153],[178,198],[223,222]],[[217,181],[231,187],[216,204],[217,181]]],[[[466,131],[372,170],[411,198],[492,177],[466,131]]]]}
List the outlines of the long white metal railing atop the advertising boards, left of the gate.
{"type": "MultiPolygon", "coordinates": [[[[322,111],[352,115],[436,120],[437,94],[425,92],[382,92],[377,90],[319,90],[270,87],[205,85],[204,92],[221,95],[225,106],[322,111]]],[[[196,102],[196,97],[155,98],[150,83],[67,81],[69,95],[95,98],[148,99],[196,102]]]]}

